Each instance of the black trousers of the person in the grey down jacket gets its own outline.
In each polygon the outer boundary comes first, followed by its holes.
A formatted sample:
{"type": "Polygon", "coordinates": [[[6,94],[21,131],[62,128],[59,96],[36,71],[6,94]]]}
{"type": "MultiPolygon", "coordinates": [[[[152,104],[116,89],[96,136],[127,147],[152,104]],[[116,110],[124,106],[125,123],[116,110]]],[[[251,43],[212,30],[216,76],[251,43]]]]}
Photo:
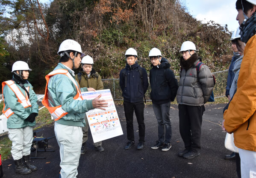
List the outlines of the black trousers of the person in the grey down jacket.
{"type": "Polygon", "coordinates": [[[179,104],[179,133],[185,149],[198,152],[201,149],[202,106],[179,104]]]}

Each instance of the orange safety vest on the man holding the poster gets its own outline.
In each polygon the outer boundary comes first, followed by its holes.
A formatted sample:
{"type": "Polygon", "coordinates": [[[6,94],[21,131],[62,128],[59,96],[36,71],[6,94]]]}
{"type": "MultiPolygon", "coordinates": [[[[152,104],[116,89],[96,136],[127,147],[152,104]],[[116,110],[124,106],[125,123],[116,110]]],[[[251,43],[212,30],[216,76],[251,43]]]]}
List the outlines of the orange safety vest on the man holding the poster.
{"type": "Polygon", "coordinates": [[[47,83],[46,83],[46,86],[45,86],[45,92],[44,92],[44,98],[42,100],[42,104],[48,109],[48,111],[50,112],[54,121],[58,121],[60,118],[62,118],[63,116],[68,114],[68,112],[65,112],[62,109],[62,107],[61,107],[62,105],[55,106],[55,107],[49,106],[49,102],[48,102],[48,83],[49,83],[50,77],[52,77],[53,75],[56,75],[56,74],[66,75],[74,83],[74,85],[77,88],[77,95],[74,96],[74,100],[82,100],[80,87],[79,87],[79,85],[77,85],[77,82],[71,76],[71,74],[68,72],[68,70],[66,70],[66,69],[57,69],[57,70],[54,70],[53,72],[50,72],[48,75],[45,76],[45,79],[46,79],[47,83]]]}

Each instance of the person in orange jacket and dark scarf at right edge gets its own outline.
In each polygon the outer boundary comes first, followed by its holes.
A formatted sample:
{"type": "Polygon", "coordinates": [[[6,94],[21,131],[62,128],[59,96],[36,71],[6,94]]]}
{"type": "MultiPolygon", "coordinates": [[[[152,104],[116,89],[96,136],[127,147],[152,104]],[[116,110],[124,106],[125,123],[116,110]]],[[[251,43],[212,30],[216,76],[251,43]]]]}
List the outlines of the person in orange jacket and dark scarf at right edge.
{"type": "Polygon", "coordinates": [[[234,133],[234,144],[241,158],[241,177],[256,176],[256,0],[235,3],[241,41],[246,43],[237,89],[224,112],[222,129],[234,133]]]}

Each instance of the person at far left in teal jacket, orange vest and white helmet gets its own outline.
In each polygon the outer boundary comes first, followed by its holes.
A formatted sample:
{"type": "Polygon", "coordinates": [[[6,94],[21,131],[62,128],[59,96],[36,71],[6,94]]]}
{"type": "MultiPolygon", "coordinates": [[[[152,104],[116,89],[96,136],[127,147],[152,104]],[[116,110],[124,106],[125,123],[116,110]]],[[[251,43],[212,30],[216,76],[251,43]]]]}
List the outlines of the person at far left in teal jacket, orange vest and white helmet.
{"type": "Polygon", "coordinates": [[[12,80],[2,83],[3,113],[8,118],[8,136],[12,141],[11,153],[15,172],[20,174],[37,170],[37,167],[30,163],[33,126],[38,115],[37,96],[27,81],[31,70],[24,61],[17,61],[12,65],[12,80]]]}

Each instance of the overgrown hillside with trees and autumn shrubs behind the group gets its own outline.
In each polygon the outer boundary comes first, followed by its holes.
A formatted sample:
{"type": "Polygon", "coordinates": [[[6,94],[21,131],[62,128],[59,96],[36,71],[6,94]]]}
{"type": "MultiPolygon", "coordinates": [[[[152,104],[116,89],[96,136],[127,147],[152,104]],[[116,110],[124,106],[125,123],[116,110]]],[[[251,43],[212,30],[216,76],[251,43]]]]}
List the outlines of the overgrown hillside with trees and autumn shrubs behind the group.
{"type": "Polygon", "coordinates": [[[3,0],[0,80],[10,79],[12,64],[24,60],[33,69],[29,81],[35,92],[43,93],[44,76],[58,63],[59,44],[65,39],[81,44],[102,78],[118,78],[129,47],[137,50],[138,63],[147,71],[148,52],[159,48],[179,75],[179,49],[186,40],[196,44],[203,62],[215,72],[230,64],[230,35],[227,26],[193,18],[179,0],[3,0]]]}

